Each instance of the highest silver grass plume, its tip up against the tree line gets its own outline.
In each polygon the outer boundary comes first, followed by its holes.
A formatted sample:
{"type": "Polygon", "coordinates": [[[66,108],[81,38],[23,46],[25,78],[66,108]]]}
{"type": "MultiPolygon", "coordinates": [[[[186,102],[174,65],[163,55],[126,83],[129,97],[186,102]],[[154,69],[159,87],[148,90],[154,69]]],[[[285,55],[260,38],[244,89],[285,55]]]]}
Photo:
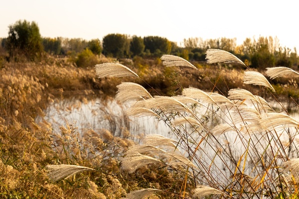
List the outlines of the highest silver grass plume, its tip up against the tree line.
{"type": "Polygon", "coordinates": [[[206,59],[208,64],[218,63],[218,62],[235,62],[246,66],[239,58],[235,55],[219,49],[208,49],[206,52],[206,59]]]}

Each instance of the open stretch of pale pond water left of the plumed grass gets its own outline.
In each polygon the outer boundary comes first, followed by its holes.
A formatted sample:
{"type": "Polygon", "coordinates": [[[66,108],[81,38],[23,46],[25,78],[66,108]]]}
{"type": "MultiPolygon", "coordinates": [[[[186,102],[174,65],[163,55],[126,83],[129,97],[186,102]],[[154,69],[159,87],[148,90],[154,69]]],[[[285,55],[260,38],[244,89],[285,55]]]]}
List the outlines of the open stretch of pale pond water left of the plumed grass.
{"type": "MultiPolygon", "coordinates": [[[[114,99],[95,100],[60,100],[53,102],[44,110],[45,119],[52,124],[53,131],[58,133],[59,126],[66,123],[85,129],[108,129],[115,136],[121,136],[127,129],[133,140],[147,134],[162,134],[173,138],[167,125],[158,122],[154,117],[128,117],[125,109],[128,105],[122,105],[114,99]]],[[[37,119],[37,120],[40,120],[37,119]]]]}

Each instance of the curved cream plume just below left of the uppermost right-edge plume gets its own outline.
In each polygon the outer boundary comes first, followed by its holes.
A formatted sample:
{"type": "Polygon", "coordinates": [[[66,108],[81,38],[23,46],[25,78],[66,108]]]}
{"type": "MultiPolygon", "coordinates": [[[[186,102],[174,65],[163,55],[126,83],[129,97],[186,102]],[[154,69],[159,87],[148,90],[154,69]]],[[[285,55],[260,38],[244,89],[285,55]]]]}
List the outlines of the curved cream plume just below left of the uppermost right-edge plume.
{"type": "Polygon", "coordinates": [[[275,91],[268,80],[261,73],[257,71],[246,71],[243,77],[244,84],[260,85],[275,91]]]}

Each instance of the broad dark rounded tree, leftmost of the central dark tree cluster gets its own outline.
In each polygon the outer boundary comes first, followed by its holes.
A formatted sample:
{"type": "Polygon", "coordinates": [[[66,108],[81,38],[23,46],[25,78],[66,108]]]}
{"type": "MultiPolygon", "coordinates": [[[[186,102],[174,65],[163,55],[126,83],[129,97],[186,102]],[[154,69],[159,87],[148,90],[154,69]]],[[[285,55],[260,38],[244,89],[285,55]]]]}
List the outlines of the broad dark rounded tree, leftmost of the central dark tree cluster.
{"type": "Polygon", "coordinates": [[[130,40],[124,34],[108,34],[103,38],[103,54],[109,57],[130,56],[130,40]]]}

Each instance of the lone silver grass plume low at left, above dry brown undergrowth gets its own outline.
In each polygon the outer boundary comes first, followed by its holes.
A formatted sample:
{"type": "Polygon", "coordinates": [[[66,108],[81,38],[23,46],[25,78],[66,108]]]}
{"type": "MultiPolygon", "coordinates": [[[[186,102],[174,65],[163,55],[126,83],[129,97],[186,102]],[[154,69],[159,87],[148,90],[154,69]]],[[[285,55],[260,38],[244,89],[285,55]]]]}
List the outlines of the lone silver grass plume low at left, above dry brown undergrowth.
{"type": "Polygon", "coordinates": [[[70,177],[83,171],[96,171],[88,167],[77,165],[47,165],[46,169],[49,171],[48,177],[52,181],[58,181],[63,178],[70,177]]]}

